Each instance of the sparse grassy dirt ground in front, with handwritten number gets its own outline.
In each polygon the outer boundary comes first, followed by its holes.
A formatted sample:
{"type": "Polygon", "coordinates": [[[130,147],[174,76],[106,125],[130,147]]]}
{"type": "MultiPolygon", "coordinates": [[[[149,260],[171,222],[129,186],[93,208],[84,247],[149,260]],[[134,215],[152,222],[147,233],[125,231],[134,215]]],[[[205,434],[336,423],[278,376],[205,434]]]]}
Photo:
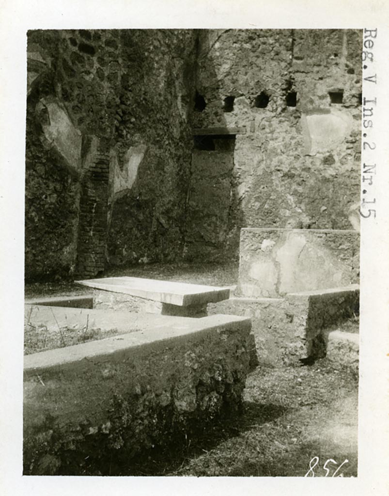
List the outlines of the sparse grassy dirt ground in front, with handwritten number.
{"type": "Polygon", "coordinates": [[[240,416],[132,461],[133,476],[356,477],[358,378],[322,359],[257,368],[240,416]]]}

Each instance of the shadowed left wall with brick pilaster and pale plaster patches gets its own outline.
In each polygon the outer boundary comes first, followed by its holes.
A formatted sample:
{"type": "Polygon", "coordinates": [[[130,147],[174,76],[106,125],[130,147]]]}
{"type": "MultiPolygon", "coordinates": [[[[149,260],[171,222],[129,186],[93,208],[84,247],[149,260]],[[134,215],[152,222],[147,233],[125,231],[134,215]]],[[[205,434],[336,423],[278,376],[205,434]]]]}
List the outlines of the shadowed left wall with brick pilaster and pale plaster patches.
{"type": "Polygon", "coordinates": [[[191,30],[28,33],[27,279],[181,253],[194,56],[191,30]]]}

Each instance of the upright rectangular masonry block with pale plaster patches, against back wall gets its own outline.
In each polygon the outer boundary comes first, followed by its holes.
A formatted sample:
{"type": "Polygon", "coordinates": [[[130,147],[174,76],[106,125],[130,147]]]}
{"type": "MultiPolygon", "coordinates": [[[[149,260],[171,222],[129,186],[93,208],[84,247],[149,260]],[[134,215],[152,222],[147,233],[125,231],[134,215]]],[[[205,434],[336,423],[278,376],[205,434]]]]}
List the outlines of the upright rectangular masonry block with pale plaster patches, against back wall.
{"type": "Polygon", "coordinates": [[[315,229],[241,230],[238,294],[287,293],[358,282],[359,233],[315,229]]]}

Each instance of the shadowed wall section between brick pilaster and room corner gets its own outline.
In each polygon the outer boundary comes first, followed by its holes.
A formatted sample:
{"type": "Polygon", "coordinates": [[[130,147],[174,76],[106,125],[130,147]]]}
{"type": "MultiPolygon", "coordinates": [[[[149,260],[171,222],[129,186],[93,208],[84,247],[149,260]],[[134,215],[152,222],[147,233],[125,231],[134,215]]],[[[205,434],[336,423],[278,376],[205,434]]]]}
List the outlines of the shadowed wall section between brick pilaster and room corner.
{"type": "Polygon", "coordinates": [[[111,168],[108,260],[174,260],[184,239],[191,164],[195,34],[123,30],[111,168]]]}

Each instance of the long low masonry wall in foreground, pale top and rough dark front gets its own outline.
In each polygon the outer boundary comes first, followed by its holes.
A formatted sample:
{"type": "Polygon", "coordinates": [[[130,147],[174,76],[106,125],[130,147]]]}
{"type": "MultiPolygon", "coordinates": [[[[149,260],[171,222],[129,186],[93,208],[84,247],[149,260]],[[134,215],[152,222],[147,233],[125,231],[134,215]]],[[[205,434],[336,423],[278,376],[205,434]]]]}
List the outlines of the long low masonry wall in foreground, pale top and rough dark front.
{"type": "Polygon", "coordinates": [[[130,475],[142,450],[239,408],[250,321],[206,318],[224,321],[183,319],[196,330],[169,339],[161,329],[133,332],[25,357],[24,474],[130,475]]]}

